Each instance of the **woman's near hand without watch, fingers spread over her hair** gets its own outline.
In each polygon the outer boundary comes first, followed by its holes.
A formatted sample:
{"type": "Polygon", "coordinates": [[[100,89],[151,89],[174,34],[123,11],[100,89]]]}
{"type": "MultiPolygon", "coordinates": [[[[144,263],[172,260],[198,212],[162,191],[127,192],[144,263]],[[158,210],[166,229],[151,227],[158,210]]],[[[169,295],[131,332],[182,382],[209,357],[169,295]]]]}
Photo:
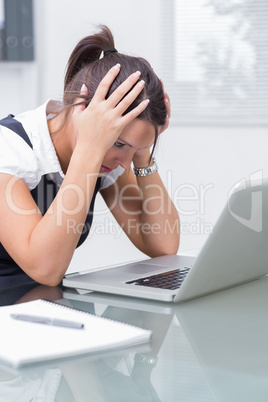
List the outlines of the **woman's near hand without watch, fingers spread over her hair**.
{"type": "MultiPolygon", "coordinates": [[[[122,116],[144,87],[144,81],[137,83],[140,77],[139,71],[131,74],[106,99],[109,88],[119,71],[119,64],[108,71],[87,107],[82,104],[73,108],[72,119],[77,144],[81,144],[82,149],[90,147],[98,152],[103,152],[104,155],[118,139],[122,130],[148,105],[148,100],[144,100],[135,109],[122,116]]],[[[88,89],[83,85],[81,95],[87,94],[88,89]]]]}

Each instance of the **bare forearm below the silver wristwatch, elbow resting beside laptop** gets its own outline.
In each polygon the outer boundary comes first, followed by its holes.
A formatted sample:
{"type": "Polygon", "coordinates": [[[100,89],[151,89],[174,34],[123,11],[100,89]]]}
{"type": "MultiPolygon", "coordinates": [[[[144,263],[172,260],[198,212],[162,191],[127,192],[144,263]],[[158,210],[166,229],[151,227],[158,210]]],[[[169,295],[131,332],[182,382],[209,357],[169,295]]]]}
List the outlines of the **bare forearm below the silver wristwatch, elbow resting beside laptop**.
{"type": "Polygon", "coordinates": [[[136,178],[131,170],[125,171],[113,186],[101,193],[119,225],[140,251],[150,257],[177,253],[179,216],[157,172],[136,178]]]}

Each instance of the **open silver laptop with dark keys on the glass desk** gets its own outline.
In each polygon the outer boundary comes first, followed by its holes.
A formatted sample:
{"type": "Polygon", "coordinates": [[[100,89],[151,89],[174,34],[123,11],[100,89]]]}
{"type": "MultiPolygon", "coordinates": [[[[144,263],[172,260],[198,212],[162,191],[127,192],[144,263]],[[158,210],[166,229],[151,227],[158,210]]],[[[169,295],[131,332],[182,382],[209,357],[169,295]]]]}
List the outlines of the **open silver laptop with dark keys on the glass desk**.
{"type": "Polygon", "coordinates": [[[266,205],[268,179],[243,181],[197,257],[165,255],[72,273],[63,285],[176,303],[249,282],[268,273],[266,205]]]}

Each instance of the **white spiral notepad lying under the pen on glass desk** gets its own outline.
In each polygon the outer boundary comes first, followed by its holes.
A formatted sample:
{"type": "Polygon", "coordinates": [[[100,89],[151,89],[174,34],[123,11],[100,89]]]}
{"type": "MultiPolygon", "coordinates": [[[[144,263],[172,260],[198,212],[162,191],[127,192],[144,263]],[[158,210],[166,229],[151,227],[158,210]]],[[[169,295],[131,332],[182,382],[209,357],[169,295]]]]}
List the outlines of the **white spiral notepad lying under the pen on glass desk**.
{"type": "Polygon", "coordinates": [[[0,307],[0,360],[15,368],[64,357],[148,342],[152,332],[46,300],[0,307]],[[83,328],[28,322],[11,315],[34,315],[83,324],[83,328]]]}

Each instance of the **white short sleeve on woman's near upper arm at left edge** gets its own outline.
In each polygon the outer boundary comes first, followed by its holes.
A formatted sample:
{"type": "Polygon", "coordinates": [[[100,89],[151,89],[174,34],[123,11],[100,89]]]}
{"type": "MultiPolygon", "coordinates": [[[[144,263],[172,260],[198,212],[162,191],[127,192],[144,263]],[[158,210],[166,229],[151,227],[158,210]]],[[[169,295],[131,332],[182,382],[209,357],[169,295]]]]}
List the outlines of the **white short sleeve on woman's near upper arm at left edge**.
{"type": "Polygon", "coordinates": [[[32,148],[18,134],[3,126],[0,126],[0,172],[22,179],[30,190],[39,182],[32,148]]]}

